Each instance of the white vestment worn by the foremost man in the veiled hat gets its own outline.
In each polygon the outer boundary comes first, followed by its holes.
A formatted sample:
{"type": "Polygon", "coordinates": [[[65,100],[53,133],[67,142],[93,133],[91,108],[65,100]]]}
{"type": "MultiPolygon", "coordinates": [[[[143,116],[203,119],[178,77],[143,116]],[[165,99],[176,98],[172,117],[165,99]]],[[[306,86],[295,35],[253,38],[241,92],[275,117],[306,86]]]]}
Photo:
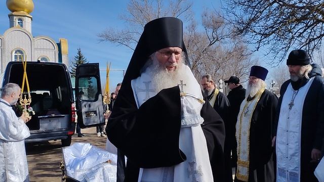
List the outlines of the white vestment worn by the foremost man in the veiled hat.
{"type": "MultiPolygon", "coordinates": [[[[186,84],[186,86],[184,86],[184,92],[203,99],[200,86],[194,78],[190,68],[185,65],[183,66],[183,69],[186,69],[187,73],[185,76],[186,82],[184,82],[184,84],[186,84]]],[[[157,94],[152,84],[153,74],[153,70],[148,67],[141,76],[132,80],[132,88],[137,107],[140,107],[145,101],[157,94]]],[[[200,116],[202,107],[203,104],[199,103],[194,98],[181,97],[179,148],[184,152],[187,160],[171,167],[152,169],[140,168],[138,181],[213,181],[207,142],[203,129],[200,126],[200,124],[204,122],[204,118],[200,116]]]]}

